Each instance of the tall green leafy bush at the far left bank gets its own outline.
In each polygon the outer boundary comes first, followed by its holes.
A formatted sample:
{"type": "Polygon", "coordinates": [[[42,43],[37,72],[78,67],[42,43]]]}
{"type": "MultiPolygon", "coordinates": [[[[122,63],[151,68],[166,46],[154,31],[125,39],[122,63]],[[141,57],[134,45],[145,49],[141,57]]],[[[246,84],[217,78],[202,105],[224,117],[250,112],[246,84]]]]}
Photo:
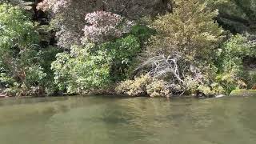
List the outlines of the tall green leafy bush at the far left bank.
{"type": "MultiPolygon", "coordinates": [[[[25,11],[17,6],[0,5],[0,82],[10,95],[45,93],[46,58],[38,45],[38,33],[25,11]]],[[[48,66],[49,67],[49,66],[48,66]]]]}

